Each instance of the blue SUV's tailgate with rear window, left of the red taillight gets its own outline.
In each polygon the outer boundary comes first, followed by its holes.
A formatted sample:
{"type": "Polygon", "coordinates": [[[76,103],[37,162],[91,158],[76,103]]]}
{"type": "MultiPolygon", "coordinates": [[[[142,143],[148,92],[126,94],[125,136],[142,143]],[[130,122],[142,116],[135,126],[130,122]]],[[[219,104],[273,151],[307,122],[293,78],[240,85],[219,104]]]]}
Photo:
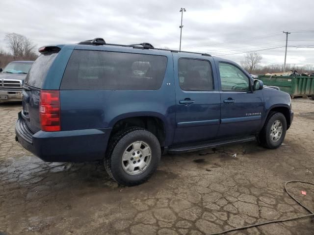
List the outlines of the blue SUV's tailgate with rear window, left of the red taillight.
{"type": "Polygon", "coordinates": [[[28,72],[22,91],[22,117],[28,128],[36,133],[40,130],[39,98],[44,80],[57,56],[57,52],[41,54],[28,72]]]}

